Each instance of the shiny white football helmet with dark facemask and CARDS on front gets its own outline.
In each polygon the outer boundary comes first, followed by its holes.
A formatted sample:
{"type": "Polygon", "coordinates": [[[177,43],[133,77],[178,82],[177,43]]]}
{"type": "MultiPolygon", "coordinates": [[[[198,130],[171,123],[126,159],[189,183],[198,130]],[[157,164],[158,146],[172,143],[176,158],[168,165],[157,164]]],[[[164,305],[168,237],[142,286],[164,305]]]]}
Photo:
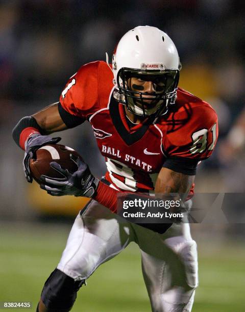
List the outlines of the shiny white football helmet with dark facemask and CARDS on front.
{"type": "Polygon", "coordinates": [[[138,26],[127,32],[114,50],[112,69],[114,98],[132,113],[164,115],[168,105],[175,102],[181,69],[179,55],[174,42],[158,28],[138,26]],[[150,97],[148,92],[132,90],[132,77],[152,82],[154,92],[150,97]]]}

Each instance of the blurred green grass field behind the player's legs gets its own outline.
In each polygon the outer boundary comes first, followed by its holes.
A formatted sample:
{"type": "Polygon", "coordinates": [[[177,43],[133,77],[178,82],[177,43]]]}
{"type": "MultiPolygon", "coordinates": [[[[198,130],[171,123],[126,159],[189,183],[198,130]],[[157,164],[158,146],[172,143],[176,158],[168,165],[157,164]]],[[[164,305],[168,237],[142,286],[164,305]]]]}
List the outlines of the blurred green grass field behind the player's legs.
{"type": "MultiPolygon", "coordinates": [[[[69,226],[0,224],[0,301],[29,301],[32,311],[56,267],[69,226]]],[[[245,311],[245,248],[199,246],[200,286],[193,312],[245,311]]],[[[8,309],[8,311],[16,309],[8,309]]],[[[22,309],[21,309],[22,310],[22,309]]],[[[74,312],[151,311],[135,244],[101,266],[82,287],[74,312]]]]}

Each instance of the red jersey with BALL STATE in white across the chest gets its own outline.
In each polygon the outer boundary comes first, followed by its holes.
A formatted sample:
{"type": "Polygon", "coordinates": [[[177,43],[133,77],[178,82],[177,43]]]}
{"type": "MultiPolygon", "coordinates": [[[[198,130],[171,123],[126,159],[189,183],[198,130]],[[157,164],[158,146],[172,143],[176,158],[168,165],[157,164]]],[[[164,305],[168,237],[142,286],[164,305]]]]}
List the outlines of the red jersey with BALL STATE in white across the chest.
{"type": "Polygon", "coordinates": [[[106,179],[117,190],[154,190],[169,159],[201,161],[211,155],[218,135],[217,115],[207,102],[178,88],[176,103],[166,116],[157,121],[149,117],[130,129],[113,91],[109,66],[92,62],[70,77],[60,103],[69,114],[90,122],[106,159],[106,179]]]}

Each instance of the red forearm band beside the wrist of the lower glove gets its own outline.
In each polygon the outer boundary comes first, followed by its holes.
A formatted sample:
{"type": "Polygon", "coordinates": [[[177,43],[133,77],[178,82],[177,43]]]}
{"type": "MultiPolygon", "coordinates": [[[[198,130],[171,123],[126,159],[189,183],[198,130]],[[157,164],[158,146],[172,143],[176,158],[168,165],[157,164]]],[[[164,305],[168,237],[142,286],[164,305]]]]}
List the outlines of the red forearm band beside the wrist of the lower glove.
{"type": "Polygon", "coordinates": [[[99,182],[99,186],[96,190],[96,195],[93,197],[97,202],[103,206],[109,208],[111,212],[116,213],[117,194],[119,192],[112,189],[102,181],[99,182]]]}

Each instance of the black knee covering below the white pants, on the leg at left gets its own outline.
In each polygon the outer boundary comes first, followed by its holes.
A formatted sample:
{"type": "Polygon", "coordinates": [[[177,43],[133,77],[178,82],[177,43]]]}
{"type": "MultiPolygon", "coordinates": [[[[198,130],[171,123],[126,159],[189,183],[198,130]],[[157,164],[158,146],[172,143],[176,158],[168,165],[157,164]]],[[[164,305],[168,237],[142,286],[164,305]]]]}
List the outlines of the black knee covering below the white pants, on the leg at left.
{"type": "Polygon", "coordinates": [[[85,279],[75,281],[70,276],[55,269],[46,280],[41,299],[46,308],[57,311],[70,310],[77,298],[77,292],[85,284],[85,279]]]}

